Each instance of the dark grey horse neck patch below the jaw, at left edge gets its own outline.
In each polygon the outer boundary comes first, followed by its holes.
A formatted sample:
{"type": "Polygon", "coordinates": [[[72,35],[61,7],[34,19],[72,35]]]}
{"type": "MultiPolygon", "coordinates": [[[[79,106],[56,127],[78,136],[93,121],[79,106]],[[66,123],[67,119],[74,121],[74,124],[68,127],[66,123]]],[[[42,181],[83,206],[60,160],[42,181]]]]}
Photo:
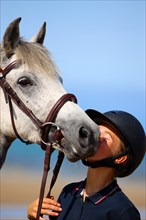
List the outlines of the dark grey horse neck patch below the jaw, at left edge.
{"type": "Polygon", "coordinates": [[[0,131],[0,169],[6,159],[7,151],[12,142],[13,142],[13,139],[6,137],[0,131]]]}

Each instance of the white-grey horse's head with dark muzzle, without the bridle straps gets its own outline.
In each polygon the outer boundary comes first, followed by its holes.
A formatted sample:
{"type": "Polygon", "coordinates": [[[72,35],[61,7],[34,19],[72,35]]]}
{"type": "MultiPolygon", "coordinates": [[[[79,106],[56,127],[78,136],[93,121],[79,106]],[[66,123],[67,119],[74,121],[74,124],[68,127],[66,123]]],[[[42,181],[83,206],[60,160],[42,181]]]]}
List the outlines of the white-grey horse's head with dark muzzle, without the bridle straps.
{"type": "MultiPolygon", "coordinates": [[[[5,69],[10,63],[20,60],[4,78],[23,103],[43,123],[52,106],[67,92],[50,52],[43,46],[46,23],[27,42],[20,37],[20,21],[21,18],[14,20],[5,31],[0,48],[0,66],[1,69],[5,69]]],[[[0,80],[2,78],[1,76],[0,80]]],[[[7,151],[17,136],[2,89],[0,89],[0,99],[0,165],[2,166],[7,151]]],[[[40,144],[40,129],[15,104],[13,104],[13,117],[19,135],[31,143],[40,144]]],[[[60,145],[54,141],[53,147],[63,151],[70,161],[75,162],[96,152],[98,126],[78,104],[67,101],[59,110],[54,123],[61,129],[63,138],[60,145]]],[[[52,135],[54,130],[52,126],[49,135],[52,135]]]]}

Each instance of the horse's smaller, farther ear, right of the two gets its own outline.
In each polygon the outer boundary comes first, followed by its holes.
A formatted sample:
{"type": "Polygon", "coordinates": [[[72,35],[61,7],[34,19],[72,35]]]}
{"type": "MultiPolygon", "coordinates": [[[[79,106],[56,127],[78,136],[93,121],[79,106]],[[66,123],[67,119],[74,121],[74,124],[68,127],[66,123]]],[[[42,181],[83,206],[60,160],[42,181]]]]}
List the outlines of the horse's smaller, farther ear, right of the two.
{"type": "Polygon", "coordinates": [[[35,34],[29,42],[43,44],[46,34],[46,22],[42,25],[37,34],[35,34]]]}

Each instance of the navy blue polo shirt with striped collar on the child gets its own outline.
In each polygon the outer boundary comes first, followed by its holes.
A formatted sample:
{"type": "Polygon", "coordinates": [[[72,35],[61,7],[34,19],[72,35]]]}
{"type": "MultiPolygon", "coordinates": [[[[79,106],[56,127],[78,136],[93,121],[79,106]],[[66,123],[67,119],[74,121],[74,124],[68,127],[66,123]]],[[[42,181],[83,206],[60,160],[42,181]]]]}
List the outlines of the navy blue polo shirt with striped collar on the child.
{"type": "Polygon", "coordinates": [[[83,202],[85,181],[64,187],[58,202],[62,211],[52,220],[140,220],[140,214],[114,180],[83,202]]]}

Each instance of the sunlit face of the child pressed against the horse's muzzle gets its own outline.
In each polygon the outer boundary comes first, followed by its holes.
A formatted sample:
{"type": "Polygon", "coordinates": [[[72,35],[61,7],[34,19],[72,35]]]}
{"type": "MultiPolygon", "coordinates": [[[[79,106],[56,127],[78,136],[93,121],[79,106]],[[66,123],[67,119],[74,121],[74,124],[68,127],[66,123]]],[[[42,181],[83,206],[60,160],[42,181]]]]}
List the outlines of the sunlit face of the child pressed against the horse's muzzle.
{"type": "Polygon", "coordinates": [[[96,154],[87,158],[88,161],[102,160],[119,153],[121,140],[109,128],[99,125],[100,129],[100,142],[97,147],[96,154]]]}

